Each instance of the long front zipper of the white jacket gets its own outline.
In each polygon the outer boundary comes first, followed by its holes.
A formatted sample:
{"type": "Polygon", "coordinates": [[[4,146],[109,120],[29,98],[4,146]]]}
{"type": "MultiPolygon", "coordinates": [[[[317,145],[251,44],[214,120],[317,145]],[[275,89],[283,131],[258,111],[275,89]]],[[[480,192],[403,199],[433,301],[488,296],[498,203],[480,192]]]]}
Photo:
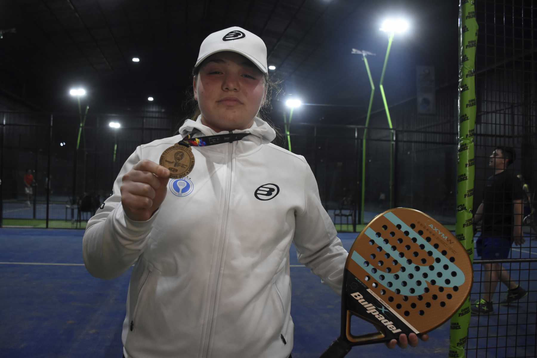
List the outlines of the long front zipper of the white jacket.
{"type": "MultiPolygon", "coordinates": [[[[233,132],[229,132],[229,133],[233,133],[233,132]]],[[[226,242],[226,229],[227,229],[227,224],[228,224],[228,214],[229,214],[229,200],[230,200],[230,196],[231,196],[231,160],[232,160],[232,157],[233,157],[233,143],[229,143],[229,155],[228,155],[228,165],[229,165],[229,170],[228,170],[228,174],[227,174],[227,182],[226,182],[226,192],[224,193],[226,195],[226,203],[224,203],[224,217],[223,217],[223,220],[222,220],[222,226],[220,228],[220,235],[219,235],[219,238],[220,238],[220,246],[219,246],[219,250],[218,250],[218,256],[216,258],[216,272],[215,272],[215,280],[216,280],[216,284],[212,284],[211,287],[213,287],[213,292],[212,292],[212,295],[211,295],[211,302],[210,302],[210,305],[209,305],[209,316],[208,316],[208,321],[207,321],[207,331],[206,331],[206,335],[205,335],[205,347],[204,347],[204,350],[203,350],[203,354],[202,354],[202,357],[207,357],[208,356],[208,353],[209,353],[209,347],[211,347],[211,341],[212,341],[212,330],[213,330],[213,317],[214,317],[214,310],[215,310],[215,306],[216,306],[216,297],[217,297],[217,294],[219,293],[219,279],[220,279],[220,271],[221,271],[221,268],[222,268],[222,255],[223,255],[223,251],[224,251],[224,244],[226,242]]]]}

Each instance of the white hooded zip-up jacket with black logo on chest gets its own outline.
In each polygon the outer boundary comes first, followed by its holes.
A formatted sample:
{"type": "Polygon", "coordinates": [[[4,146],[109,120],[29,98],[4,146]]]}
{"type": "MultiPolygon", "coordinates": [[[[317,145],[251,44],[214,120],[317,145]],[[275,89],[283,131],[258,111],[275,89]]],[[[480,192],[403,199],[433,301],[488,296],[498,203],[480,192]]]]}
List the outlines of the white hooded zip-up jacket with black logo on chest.
{"type": "MultiPolygon", "coordinates": [[[[159,162],[186,134],[215,135],[187,120],[179,135],[140,145],[93,216],[85,266],[113,279],[134,265],[123,324],[133,358],[286,358],[293,348],[289,247],[336,293],[347,252],[321,205],[304,157],[270,142],[255,118],[240,141],[192,147],[193,171],[170,179],[161,207],[144,222],[121,206],[122,177],[141,159],[159,162]]],[[[220,133],[223,134],[223,133],[220,133]]]]}

